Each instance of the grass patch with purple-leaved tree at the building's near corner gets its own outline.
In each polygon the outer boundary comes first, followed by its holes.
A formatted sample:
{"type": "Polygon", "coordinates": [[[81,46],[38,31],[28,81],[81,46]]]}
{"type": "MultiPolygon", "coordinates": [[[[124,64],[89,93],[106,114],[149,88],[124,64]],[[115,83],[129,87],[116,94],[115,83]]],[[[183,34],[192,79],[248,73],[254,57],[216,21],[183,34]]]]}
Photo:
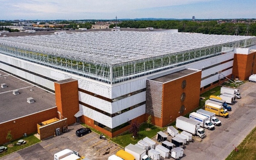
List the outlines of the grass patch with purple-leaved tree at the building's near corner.
{"type": "Polygon", "coordinates": [[[164,128],[159,128],[155,125],[149,125],[149,128],[151,129],[150,131],[146,131],[146,129],[148,128],[148,124],[147,123],[143,123],[140,125],[140,132],[139,132],[139,136],[136,138],[132,138],[132,133],[130,133],[129,131],[124,132],[123,134],[110,139],[111,141],[119,144],[122,147],[126,147],[128,144],[132,143],[132,144],[136,144],[139,140],[148,137],[148,138],[152,138],[154,136],[156,136],[156,133],[159,131],[164,131],[166,129],[166,127],[164,128]]]}

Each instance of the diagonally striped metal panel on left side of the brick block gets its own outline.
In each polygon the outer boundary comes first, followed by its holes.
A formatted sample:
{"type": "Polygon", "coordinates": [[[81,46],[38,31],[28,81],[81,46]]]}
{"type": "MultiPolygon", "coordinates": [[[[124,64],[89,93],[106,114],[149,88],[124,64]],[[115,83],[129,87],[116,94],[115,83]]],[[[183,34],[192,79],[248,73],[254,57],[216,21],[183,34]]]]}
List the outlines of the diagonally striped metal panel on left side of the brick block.
{"type": "Polygon", "coordinates": [[[158,118],[162,116],[163,84],[156,81],[147,81],[146,113],[158,118]]]}

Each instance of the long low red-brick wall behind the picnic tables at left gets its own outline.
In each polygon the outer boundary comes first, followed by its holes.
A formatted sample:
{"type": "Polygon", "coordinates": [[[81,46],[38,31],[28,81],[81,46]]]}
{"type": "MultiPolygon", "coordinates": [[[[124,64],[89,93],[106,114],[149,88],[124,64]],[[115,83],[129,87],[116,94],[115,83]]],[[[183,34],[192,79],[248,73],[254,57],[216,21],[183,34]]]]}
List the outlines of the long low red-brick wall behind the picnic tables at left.
{"type": "Polygon", "coordinates": [[[37,132],[36,124],[56,117],[58,117],[57,107],[15,119],[13,120],[15,123],[8,121],[0,124],[0,144],[8,142],[8,140],[6,140],[8,131],[11,131],[12,139],[15,140],[22,137],[24,133],[29,135],[37,132]]]}

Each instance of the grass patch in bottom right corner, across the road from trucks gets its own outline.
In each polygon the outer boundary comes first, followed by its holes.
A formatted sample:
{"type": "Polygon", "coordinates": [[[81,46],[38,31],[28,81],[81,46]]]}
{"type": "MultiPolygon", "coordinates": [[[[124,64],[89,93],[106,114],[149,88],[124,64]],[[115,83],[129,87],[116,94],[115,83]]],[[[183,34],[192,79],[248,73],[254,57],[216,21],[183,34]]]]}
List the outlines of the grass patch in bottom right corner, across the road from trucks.
{"type": "MultiPolygon", "coordinates": [[[[256,127],[245,137],[243,142],[237,147],[238,152],[234,150],[226,158],[226,160],[233,159],[247,159],[254,160],[256,159],[256,127]]],[[[235,149],[235,147],[234,147],[235,149]]]]}

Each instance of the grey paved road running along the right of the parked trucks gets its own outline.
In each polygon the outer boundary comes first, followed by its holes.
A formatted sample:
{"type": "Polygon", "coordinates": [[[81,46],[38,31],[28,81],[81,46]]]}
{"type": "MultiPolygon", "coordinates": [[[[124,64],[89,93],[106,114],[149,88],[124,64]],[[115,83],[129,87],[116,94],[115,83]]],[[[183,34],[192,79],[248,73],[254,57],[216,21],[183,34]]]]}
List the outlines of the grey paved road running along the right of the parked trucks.
{"type": "Polygon", "coordinates": [[[230,117],[218,117],[222,125],[213,131],[205,130],[203,141],[186,146],[182,160],[225,159],[256,127],[256,83],[243,84],[239,92],[242,98],[231,105],[230,117]]]}

